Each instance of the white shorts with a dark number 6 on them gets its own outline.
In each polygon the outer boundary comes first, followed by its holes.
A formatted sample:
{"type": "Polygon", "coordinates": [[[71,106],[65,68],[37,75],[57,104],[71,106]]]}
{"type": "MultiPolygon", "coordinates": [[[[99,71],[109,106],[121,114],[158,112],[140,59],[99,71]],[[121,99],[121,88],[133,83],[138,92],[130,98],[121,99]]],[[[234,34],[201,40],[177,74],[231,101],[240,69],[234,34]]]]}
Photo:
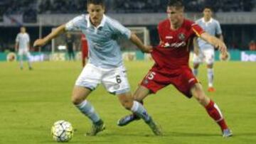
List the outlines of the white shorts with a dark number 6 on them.
{"type": "Polygon", "coordinates": [[[98,84],[103,84],[111,94],[124,94],[130,92],[127,73],[124,66],[105,69],[88,63],[83,68],[75,82],[76,86],[94,90],[98,84]]]}

